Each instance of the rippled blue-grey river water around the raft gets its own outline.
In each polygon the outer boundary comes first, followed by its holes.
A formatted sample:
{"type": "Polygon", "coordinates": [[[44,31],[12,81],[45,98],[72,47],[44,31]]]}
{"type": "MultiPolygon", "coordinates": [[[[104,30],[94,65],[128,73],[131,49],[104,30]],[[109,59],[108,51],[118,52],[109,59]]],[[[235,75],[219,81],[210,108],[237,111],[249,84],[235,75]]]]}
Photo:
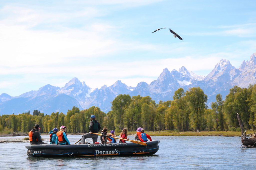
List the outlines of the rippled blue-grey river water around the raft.
{"type": "MultiPolygon", "coordinates": [[[[0,137],[7,140],[10,137],[0,137]]],[[[13,137],[22,138],[22,137],[13,137]]],[[[48,136],[42,136],[47,140],[48,136]]],[[[71,143],[80,135],[68,135],[71,143]]],[[[128,138],[133,139],[133,136],[128,138]]],[[[239,137],[156,137],[159,150],[150,156],[29,158],[25,145],[0,143],[1,169],[255,169],[255,148],[242,148],[239,137]]],[[[88,139],[87,141],[91,141],[88,139]]],[[[99,138],[98,138],[99,141],[99,138]]],[[[46,141],[45,141],[46,142],[46,141]]]]}

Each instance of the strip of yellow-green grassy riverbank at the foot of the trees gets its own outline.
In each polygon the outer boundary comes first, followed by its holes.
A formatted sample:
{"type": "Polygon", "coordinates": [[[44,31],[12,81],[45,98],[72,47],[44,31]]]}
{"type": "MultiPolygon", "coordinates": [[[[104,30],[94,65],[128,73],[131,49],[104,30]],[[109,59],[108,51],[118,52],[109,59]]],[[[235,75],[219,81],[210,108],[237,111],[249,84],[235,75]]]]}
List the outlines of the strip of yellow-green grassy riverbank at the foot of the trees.
{"type": "MultiPolygon", "coordinates": [[[[136,131],[129,131],[128,135],[135,135],[136,131]]],[[[201,132],[177,132],[173,130],[164,130],[164,131],[146,131],[150,136],[241,136],[240,131],[201,131],[201,132]]],[[[247,130],[247,134],[254,133],[252,130],[247,130]]],[[[84,133],[68,133],[68,135],[83,135],[84,133]]],[[[10,134],[1,134],[0,136],[28,136],[27,133],[10,133],[10,134]]],[[[41,133],[41,135],[48,135],[47,133],[41,133]]],[[[116,133],[119,135],[119,133],[116,133]]]]}

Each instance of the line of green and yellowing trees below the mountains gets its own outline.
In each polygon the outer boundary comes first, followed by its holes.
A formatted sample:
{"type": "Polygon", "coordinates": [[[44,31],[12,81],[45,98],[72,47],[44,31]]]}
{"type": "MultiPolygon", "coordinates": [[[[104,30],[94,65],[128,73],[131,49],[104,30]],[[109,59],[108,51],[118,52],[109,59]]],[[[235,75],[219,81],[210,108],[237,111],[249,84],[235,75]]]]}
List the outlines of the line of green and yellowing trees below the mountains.
{"type": "Polygon", "coordinates": [[[234,86],[225,101],[220,94],[216,102],[207,106],[207,95],[199,87],[186,92],[179,88],[174,92],[173,100],[160,101],[158,104],[150,96],[118,95],[112,101],[111,111],[104,113],[99,107],[85,110],[73,107],[65,114],[45,115],[38,110],[19,115],[0,116],[0,133],[28,132],[35,124],[42,132],[65,125],[69,133],[89,132],[90,116],[94,114],[101,127],[121,131],[126,127],[135,131],[143,127],[148,131],[235,131],[239,128],[236,113],[239,113],[244,126],[255,130],[256,127],[256,85],[248,88],[234,86]]]}

